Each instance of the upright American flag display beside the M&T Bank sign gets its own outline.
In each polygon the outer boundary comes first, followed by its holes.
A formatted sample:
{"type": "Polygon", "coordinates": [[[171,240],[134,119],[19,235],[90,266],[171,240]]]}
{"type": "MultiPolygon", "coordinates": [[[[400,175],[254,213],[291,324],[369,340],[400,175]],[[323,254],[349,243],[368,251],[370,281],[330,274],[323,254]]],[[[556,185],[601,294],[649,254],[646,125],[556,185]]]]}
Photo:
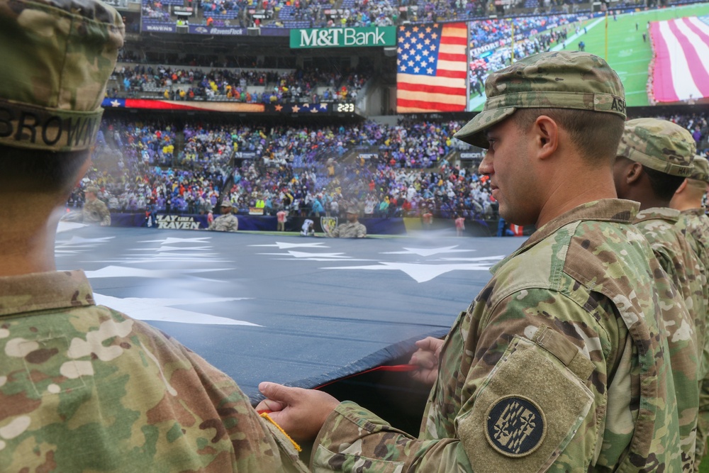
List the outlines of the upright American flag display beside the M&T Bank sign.
{"type": "Polygon", "coordinates": [[[464,111],[467,25],[404,25],[396,39],[396,112],[464,111]]]}

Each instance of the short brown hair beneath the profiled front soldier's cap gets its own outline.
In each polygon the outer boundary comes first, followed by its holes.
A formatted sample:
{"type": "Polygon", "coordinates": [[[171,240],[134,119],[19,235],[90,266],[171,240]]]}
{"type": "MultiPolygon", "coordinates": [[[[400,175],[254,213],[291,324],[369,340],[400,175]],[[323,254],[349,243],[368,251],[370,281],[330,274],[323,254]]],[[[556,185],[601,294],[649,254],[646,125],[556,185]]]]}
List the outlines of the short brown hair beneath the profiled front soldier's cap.
{"type": "Polygon", "coordinates": [[[528,130],[538,117],[552,118],[571,135],[571,142],[589,164],[612,165],[625,121],[618,115],[574,108],[520,108],[511,117],[520,130],[528,130]]]}

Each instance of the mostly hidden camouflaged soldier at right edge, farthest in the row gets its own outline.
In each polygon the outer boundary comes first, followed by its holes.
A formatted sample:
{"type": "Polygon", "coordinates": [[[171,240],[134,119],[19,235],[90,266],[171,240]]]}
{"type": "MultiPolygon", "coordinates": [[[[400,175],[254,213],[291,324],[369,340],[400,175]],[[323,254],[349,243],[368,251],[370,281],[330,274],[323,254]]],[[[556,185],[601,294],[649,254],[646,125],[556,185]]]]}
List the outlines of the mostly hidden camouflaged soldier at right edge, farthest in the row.
{"type": "MultiPolygon", "coordinates": [[[[709,216],[702,205],[702,199],[709,184],[709,163],[705,157],[694,157],[692,174],[682,182],[675,192],[670,206],[681,211],[680,225],[686,228],[686,237],[693,252],[709,274],[709,216]]],[[[704,321],[707,327],[709,313],[704,321]]],[[[709,338],[705,338],[700,372],[709,371],[709,338]]],[[[705,375],[706,377],[706,375],[705,375]]],[[[699,463],[706,453],[709,435],[709,381],[704,379],[699,392],[699,419],[697,424],[697,450],[694,470],[699,471],[699,463]]]]}

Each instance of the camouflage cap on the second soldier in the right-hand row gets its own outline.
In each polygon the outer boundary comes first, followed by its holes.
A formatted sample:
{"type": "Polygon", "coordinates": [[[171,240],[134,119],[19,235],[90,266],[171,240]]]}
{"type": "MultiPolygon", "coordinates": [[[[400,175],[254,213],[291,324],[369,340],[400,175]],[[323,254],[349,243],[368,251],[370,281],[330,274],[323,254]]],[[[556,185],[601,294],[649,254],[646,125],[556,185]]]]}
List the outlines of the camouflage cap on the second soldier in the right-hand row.
{"type": "Polygon", "coordinates": [[[625,122],[615,154],[671,176],[689,177],[695,152],[694,138],[681,126],[658,118],[635,118],[625,122]]]}

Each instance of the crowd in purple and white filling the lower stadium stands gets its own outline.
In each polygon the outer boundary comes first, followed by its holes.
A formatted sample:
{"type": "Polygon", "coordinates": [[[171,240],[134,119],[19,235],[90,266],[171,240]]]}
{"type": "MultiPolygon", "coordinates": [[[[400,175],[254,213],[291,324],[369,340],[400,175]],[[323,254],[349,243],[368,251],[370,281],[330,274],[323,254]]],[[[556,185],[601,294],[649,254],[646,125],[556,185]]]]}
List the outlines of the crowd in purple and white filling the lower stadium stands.
{"type": "MultiPolygon", "coordinates": [[[[662,117],[690,130],[709,152],[708,116],[662,117]]],[[[338,214],[356,205],[364,217],[456,214],[496,217],[485,176],[459,161],[453,133],[462,121],[402,119],[340,126],[245,126],[106,120],[94,167],[72,198],[89,185],[114,212],[209,213],[229,174],[236,211],[285,208],[296,215],[338,214]],[[177,143],[180,143],[179,145],[177,143]],[[234,156],[245,157],[233,160],[234,156]],[[234,162],[241,162],[234,166],[234,162]],[[337,202],[337,204],[335,204],[337,202]]]]}

